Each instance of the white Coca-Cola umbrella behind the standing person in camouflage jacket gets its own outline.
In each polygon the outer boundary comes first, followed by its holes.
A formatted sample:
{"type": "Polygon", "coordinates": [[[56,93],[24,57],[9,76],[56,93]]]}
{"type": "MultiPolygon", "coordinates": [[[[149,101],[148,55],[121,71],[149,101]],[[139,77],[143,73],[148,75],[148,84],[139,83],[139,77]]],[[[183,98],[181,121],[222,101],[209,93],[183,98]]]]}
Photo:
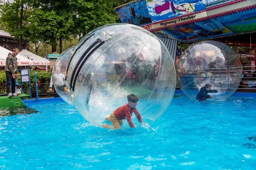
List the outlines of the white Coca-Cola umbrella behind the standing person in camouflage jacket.
{"type": "MultiPolygon", "coordinates": [[[[12,51],[7,50],[6,48],[3,48],[0,46],[0,66],[5,66],[6,65],[6,57],[8,56],[9,53],[12,53],[12,51]]],[[[27,59],[25,57],[22,57],[21,55],[17,55],[17,65],[33,65],[34,62],[31,61],[30,59],[27,59]]]]}

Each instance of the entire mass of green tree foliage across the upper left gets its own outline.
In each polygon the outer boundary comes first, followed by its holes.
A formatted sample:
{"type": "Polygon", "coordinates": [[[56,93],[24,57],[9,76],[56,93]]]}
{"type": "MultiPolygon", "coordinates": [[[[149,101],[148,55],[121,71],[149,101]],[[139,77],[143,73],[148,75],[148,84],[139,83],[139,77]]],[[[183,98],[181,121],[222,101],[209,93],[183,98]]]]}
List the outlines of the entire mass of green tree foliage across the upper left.
{"type": "MultiPolygon", "coordinates": [[[[44,43],[59,50],[58,41],[70,42],[62,51],[75,45],[79,38],[99,26],[116,23],[119,17],[114,7],[132,0],[6,0],[0,3],[0,28],[15,39],[29,40],[33,44],[44,43]],[[23,14],[22,14],[23,9],[23,14]],[[20,27],[20,21],[22,25],[20,27]],[[71,39],[71,37],[75,37],[71,39]]],[[[33,45],[32,45],[33,47],[33,45]]],[[[38,49],[42,57],[52,51],[50,47],[38,49]]],[[[35,52],[35,51],[34,51],[35,52]]],[[[36,52],[35,52],[36,53],[36,52]]]]}

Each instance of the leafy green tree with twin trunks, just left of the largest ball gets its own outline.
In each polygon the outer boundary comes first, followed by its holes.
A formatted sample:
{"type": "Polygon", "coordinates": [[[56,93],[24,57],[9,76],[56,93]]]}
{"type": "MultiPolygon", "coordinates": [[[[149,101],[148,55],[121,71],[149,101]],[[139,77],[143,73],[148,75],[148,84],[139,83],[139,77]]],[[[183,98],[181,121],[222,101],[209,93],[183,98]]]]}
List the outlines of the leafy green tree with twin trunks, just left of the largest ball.
{"type": "Polygon", "coordinates": [[[70,32],[74,29],[73,10],[66,1],[37,0],[33,4],[33,14],[30,18],[30,31],[33,34],[32,42],[45,42],[56,51],[57,42],[70,40],[70,32]]]}

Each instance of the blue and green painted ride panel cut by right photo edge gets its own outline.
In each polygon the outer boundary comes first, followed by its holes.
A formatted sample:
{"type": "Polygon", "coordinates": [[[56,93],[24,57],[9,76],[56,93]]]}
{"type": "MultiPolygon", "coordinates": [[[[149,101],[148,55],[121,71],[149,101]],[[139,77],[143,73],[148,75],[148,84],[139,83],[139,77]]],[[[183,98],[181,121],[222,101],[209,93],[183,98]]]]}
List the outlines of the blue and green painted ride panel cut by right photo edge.
{"type": "Polygon", "coordinates": [[[236,33],[255,31],[256,9],[219,17],[217,20],[236,33]]]}

